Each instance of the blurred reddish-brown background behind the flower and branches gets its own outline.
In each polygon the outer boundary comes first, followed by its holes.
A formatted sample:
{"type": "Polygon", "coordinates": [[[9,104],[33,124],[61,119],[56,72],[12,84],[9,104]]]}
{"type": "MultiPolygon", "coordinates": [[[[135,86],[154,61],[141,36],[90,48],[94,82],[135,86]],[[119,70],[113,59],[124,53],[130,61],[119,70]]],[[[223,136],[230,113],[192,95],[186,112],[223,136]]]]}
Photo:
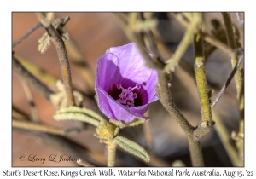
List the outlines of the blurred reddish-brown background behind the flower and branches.
{"type": "MultiPolygon", "coordinates": [[[[126,13],[125,13],[126,14],[126,13]]],[[[55,13],[55,17],[65,18],[69,16],[70,20],[64,27],[69,33],[73,45],[77,47],[81,54],[81,61],[87,72],[90,74],[89,81],[94,83],[96,75],[96,61],[99,56],[113,46],[130,43],[125,32],[119,26],[119,23],[111,13],[55,13]]],[[[172,57],[172,53],[177,49],[177,45],[183,38],[185,28],[169,13],[144,13],[145,18],[155,18],[158,24],[152,30],[155,42],[162,57],[166,60],[172,57]]],[[[240,32],[240,43],[242,44],[243,34],[236,20],[236,14],[231,13],[232,22],[237,26],[240,32]]],[[[241,13],[243,18],[243,14],[241,13]]],[[[211,20],[218,20],[223,25],[221,13],[204,13],[203,20],[206,32],[212,34],[211,20]]],[[[28,32],[32,26],[38,23],[34,13],[13,13],[12,14],[12,43],[28,32]]],[[[13,51],[25,61],[34,66],[38,66],[42,71],[49,73],[57,79],[61,78],[61,68],[58,56],[53,44],[45,54],[38,51],[38,39],[42,37],[45,30],[40,27],[35,32],[17,44],[13,51]]],[[[67,43],[67,41],[65,42],[67,43]]],[[[243,47],[243,45],[241,45],[243,47]]],[[[97,111],[94,101],[93,86],[84,83],[79,68],[73,61],[73,55],[67,50],[71,66],[73,87],[81,91],[85,97],[83,106],[97,111]]],[[[194,54],[193,46],[182,58],[183,67],[177,66],[172,75],[172,98],[183,115],[189,120],[190,124],[196,125],[201,119],[200,101],[195,85],[194,74],[194,54]],[[190,74],[190,75],[189,75],[190,74]]],[[[229,77],[231,72],[230,57],[220,49],[216,49],[207,59],[207,81],[208,89],[214,90],[212,101],[216,98],[218,91],[229,77]]],[[[50,89],[57,91],[52,84],[47,84],[50,89]]],[[[93,84],[92,84],[93,85],[93,84]]],[[[43,124],[59,127],[61,129],[72,129],[74,124],[71,121],[55,121],[53,115],[56,108],[36,90],[32,90],[35,106],[37,107],[38,119],[43,124]]],[[[26,99],[25,91],[20,83],[20,78],[13,72],[12,74],[12,104],[13,109],[26,115],[31,114],[30,104],[26,99]]],[[[239,110],[236,98],[236,85],[231,81],[223,97],[214,108],[218,118],[223,122],[229,134],[231,131],[238,130],[239,110]]],[[[166,112],[159,101],[154,102],[146,115],[151,117],[149,127],[152,133],[152,145],[148,145],[144,135],[145,126],[128,128],[120,131],[121,136],[136,141],[147,149],[154,156],[153,162],[143,163],[140,159],[125,153],[123,150],[117,152],[117,166],[172,166],[173,161],[182,160],[186,166],[191,166],[189,157],[189,145],[187,136],[179,127],[176,121],[166,112]]],[[[100,143],[94,136],[96,130],[93,126],[84,125],[84,130],[73,136],[65,136],[68,140],[79,145],[79,154],[84,155],[91,164],[96,166],[106,166],[106,147],[100,143]],[[85,151],[85,152],[84,152],[85,151]],[[105,160],[104,160],[105,159],[105,160]]],[[[43,136],[43,135],[42,135],[43,136]]],[[[45,137],[44,137],[45,138],[45,137]]],[[[44,164],[40,161],[20,161],[20,155],[29,156],[34,154],[37,158],[49,159],[51,154],[61,155],[63,151],[57,150],[52,144],[47,144],[40,138],[40,135],[32,135],[25,130],[13,129],[12,132],[12,165],[13,166],[78,166],[75,162],[52,162],[46,160],[44,164]]],[[[150,141],[150,139],[149,139],[150,141]]],[[[232,141],[230,141],[231,144],[232,141]]],[[[206,166],[232,166],[222,142],[220,141],[216,130],[201,140],[203,157],[206,166]]],[[[65,145],[63,144],[63,147],[65,145]]]]}

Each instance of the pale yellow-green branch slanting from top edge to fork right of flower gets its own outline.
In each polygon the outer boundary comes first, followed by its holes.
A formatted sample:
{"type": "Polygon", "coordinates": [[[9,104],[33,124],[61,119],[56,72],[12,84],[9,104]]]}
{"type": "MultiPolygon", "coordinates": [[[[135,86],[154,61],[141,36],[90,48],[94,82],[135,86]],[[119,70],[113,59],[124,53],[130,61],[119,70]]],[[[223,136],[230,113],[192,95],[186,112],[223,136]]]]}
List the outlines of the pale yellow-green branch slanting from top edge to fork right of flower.
{"type": "Polygon", "coordinates": [[[193,14],[193,19],[191,21],[191,23],[189,24],[182,41],[179,43],[176,52],[174,53],[174,55],[172,56],[172,59],[167,60],[169,61],[168,64],[165,66],[165,71],[169,72],[169,71],[174,71],[175,67],[177,66],[179,60],[181,59],[181,57],[183,56],[183,54],[185,53],[186,49],[188,49],[189,44],[191,43],[194,33],[195,33],[195,29],[197,28],[197,25],[201,22],[201,13],[194,13],[193,14]]]}

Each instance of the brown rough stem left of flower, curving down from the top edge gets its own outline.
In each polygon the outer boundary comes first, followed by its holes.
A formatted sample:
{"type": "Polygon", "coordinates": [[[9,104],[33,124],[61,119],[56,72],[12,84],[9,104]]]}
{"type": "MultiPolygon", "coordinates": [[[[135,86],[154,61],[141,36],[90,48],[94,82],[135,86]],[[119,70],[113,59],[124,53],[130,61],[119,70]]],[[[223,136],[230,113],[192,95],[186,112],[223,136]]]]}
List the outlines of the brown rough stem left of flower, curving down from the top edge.
{"type": "Polygon", "coordinates": [[[67,103],[68,106],[74,106],[74,96],[73,96],[73,87],[71,80],[71,72],[69,67],[69,62],[67,58],[67,50],[61,36],[56,32],[55,28],[51,25],[50,21],[46,14],[37,13],[38,20],[44,26],[45,30],[48,32],[51,41],[55,44],[55,49],[59,56],[59,61],[61,64],[61,74],[63,78],[63,84],[65,85],[67,103]]]}

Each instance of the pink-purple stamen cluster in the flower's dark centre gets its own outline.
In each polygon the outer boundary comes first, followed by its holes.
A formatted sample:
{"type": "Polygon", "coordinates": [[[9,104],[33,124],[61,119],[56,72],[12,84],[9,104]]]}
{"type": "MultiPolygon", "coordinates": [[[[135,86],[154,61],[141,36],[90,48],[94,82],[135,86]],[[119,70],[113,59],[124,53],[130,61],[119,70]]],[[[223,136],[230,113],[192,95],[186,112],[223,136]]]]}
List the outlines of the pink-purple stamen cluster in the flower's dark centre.
{"type": "Polygon", "coordinates": [[[124,105],[125,107],[134,107],[134,99],[137,98],[137,93],[132,92],[133,90],[139,90],[141,88],[140,84],[136,84],[135,87],[131,88],[128,87],[127,89],[122,87],[122,84],[116,85],[117,89],[121,89],[122,92],[119,95],[118,101],[120,104],[124,105]]]}

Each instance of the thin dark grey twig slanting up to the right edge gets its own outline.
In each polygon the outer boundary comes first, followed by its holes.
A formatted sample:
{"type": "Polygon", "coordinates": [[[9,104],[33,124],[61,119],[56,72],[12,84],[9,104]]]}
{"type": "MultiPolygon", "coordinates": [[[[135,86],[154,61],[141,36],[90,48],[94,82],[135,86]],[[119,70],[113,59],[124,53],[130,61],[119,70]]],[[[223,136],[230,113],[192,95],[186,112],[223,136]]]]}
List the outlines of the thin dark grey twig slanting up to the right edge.
{"type": "Polygon", "coordinates": [[[232,70],[232,72],[230,73],[230,77],[227,79],[227,81],[224,83],[223,87],[221,88],[221,90],[218,92],[218,95],[215,99],[215,101],[212,102],[211,105],[211,110],[213,109],[213,107],[215,107],[215,105],[218,103],[219,99],[221,98],[221,96],[224,94],[224,91],[228,88],[232,78],[234,77],[238,67],[241,64],[241,61],[243,60],[243,57],[239,58],[239,61],[237,62],[235,68],[232,70]]]}

